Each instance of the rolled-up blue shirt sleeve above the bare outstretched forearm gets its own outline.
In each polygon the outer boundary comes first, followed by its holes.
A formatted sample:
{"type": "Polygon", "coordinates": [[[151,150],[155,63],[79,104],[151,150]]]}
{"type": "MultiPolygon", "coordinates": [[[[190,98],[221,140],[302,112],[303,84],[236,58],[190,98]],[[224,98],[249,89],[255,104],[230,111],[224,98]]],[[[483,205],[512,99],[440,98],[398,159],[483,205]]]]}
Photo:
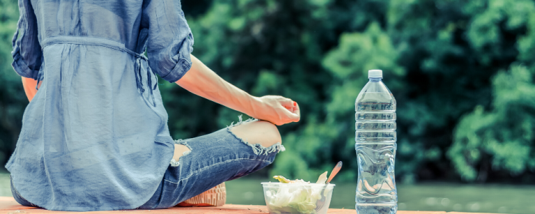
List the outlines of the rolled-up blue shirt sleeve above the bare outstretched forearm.
{"type": "Polygon", "coordinates": [[[178,0],[152,0],[144,8],[150,68],[176,82],[192,67],[193,35],[178,0]]]}

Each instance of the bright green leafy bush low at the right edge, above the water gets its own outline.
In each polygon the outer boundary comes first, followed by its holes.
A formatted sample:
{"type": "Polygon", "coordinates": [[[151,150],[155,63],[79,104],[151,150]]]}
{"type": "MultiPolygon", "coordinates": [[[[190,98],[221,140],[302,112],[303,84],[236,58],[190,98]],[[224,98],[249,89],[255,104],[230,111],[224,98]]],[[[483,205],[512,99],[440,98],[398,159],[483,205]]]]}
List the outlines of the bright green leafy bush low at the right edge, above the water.
{"type": "Polygon", "coordinates": [[[486,181],[491,170],[513,175],[535,169],[534,71],[512,66],[493,78],[493,107],[477,106],[456,127],[448,155],[467,181],[486,181]]]}

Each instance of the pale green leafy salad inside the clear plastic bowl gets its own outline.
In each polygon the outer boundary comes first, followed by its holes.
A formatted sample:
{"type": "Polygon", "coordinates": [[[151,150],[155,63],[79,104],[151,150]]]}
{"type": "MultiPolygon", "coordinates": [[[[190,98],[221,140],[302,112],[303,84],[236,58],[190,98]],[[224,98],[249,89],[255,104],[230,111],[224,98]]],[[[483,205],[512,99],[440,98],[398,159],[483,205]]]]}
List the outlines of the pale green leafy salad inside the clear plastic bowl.
{"type": "MultiPolygon", "coordinates": [[[[325,186],[313,186],[309,185],[310,182],[299,179],[292,181],[283,176],[273,178],[288,185],[276,185],[265,191],[270,213],[316,213],[316,206],[318,200],[322,199],[321,194],[325,186]]],[[[327,171],[320,175],[316,184],[325,184],[325,181],[327,181],[327,171]]],[[[332,188],[323,191],[324,198],[330,191],[332,188]]]]}

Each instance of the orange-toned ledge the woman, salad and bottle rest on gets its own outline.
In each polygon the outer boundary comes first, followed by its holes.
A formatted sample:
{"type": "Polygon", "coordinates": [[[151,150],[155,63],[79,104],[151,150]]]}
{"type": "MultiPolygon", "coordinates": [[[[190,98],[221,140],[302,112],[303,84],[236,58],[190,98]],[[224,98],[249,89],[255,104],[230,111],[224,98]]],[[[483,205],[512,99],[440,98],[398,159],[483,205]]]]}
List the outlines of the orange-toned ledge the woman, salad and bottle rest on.
{"type": "MultiPolygon", "coordinates": [[[[6,214],[54,214],[54,213],[79,213],[79,212],[65,212],[65,211],[47,211],[41,208],[32,208],[22,206],[13,199],[13,197],[0,197],[0,213],[6,214]]],[[[127,211],[95,211],[86,212],[94,214],[104,213],[123,213],[123,214],[166,214],[166,213],[242,213],[242,214],[258,214],[268,213],[266,206],[257,205],[236,205],[226,204],[218,207],[173,207],[162,210],[127,210],[127,211]]],[[[336,214],[355,214],[354,209],[329,209],[328,213],[336,214]]],[[[441,211],[398,211],[398,214],[442,214],[447,212],[441,211]]],[[[447,214],[461,214],[456,212],[449,212],[447,214]]],[[[467,213],[465,213],[467,214],[467,213]]],[[[471,213],[471,214],[485,214],[485,213],[471,213]]]]}

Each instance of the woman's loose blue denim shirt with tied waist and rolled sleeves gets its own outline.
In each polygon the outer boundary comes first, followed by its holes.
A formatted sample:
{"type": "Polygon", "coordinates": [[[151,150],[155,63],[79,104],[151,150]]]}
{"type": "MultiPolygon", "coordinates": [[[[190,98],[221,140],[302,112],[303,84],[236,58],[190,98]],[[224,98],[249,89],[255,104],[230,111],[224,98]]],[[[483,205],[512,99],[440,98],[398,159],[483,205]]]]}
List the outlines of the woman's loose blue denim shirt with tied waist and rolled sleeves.
{"type": "Polygon", "coordinates": [[[176,82],[192,65],[180,1],[20,0],[19,7],[13,68],[42,85],[6,165],[14,187],[50,210],[141,206],[174,148],[155,74],[176,82]]]}

